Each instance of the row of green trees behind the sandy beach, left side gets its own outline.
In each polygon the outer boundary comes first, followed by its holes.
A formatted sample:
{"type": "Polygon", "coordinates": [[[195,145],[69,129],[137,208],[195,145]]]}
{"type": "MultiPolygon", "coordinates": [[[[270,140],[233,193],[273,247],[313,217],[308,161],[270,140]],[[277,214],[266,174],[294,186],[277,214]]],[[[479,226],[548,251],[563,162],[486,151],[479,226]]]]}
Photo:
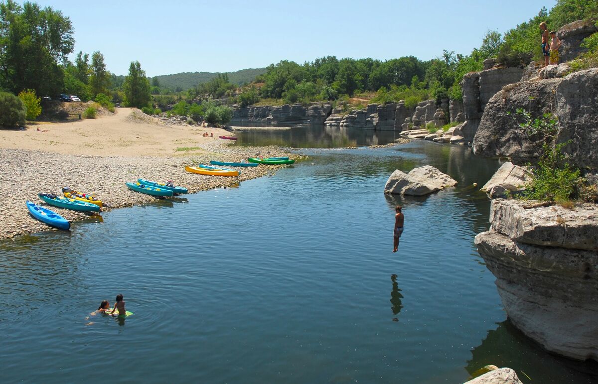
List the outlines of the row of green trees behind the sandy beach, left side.
{"type": "Polygon", "coordinates": [[[106,69],[99,51],[91,56],[79,52],[71,62],[74,44],[71,20],[61,11],[35,2],[0,1],[0,91],[38,98],[66,93],[112,108],[113,103],[149,104],[149,80],[138,61],[130,63],[126,77],[117,77],[106,69]]]}

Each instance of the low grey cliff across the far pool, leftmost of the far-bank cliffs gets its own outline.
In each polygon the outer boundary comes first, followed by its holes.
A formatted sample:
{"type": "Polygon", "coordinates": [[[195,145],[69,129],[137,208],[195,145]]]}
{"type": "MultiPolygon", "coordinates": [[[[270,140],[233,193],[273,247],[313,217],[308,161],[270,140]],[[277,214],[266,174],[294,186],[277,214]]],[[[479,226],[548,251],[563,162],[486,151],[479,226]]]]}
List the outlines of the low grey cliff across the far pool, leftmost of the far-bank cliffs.
{"type": "Polygon", "coordinates": [[[328,103],[300,103],[280,106],[233,106],[231,123],[324,124],[332,110],[328,103]]]}

